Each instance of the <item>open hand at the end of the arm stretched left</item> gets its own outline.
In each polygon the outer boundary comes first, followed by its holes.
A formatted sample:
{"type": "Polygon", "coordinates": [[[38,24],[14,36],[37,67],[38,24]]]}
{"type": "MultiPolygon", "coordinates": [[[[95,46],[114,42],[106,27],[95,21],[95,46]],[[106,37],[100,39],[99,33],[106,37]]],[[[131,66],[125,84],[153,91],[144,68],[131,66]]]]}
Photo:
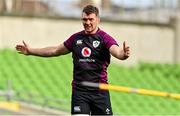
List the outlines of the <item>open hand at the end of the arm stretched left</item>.
{"type": "Polygon", "coordinates": [[[29,55],[29,46],[23,41],[23,45],[16,45],[16,50],[21,54],[29,55]]]}

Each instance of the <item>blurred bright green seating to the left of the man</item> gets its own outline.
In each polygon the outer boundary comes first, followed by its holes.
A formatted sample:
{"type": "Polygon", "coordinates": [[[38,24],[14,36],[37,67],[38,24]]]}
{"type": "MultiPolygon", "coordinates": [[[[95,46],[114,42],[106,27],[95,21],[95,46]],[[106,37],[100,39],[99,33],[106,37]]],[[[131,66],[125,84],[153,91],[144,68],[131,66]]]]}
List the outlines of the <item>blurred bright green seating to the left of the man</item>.
{"type": "Polygon", "coordinates": [[[13,89],[20,93],[17,99],[42,105],[49,100],[48,105],[70,108],[70,55],[40,58],[24,56],[9,49],[1,50],[0,54],[0,90],[6,89],[7,80],[11,80],[13,89]],[[54,103],[51,103],[51,100],[55,100],[54,103]],[[58,100],[64,102],[56,102],[58,100]]]}

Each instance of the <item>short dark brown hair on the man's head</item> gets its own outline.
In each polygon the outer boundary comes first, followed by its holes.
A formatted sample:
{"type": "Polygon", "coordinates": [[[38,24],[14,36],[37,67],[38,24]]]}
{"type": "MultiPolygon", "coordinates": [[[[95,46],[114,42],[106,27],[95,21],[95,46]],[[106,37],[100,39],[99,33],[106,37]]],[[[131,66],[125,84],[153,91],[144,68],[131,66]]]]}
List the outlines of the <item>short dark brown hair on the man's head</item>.
{"type": "Polygon", "coordinates": [[[99,9],[93,5],[87,5],[84,7],[83,11],[87,15],[94,13],[96,16],[99,16],[99,9]]]}

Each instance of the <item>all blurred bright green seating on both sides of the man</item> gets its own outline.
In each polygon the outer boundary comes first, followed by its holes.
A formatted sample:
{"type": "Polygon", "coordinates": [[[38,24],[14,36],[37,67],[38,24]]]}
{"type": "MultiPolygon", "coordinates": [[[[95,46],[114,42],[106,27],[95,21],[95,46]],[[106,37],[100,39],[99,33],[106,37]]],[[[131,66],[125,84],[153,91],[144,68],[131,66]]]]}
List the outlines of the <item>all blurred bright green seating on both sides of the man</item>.
{"type": "MultiPolygon", "coordinates": [[[[41,58],[3,49],[0,50],[0,90],[5,90],[7,80],[11,80],[18,93],[15,99],[70,110],[72,69],[71,54],[41,58]]],[[[140,63],[123,67],[112,63],[108,72],[109,83],[113,85],[180,91],[180,65],[140,63]]],[[[180,115],[180,101],[175,99],[111,91],[111,101],[114,114],[180,115]]]]}

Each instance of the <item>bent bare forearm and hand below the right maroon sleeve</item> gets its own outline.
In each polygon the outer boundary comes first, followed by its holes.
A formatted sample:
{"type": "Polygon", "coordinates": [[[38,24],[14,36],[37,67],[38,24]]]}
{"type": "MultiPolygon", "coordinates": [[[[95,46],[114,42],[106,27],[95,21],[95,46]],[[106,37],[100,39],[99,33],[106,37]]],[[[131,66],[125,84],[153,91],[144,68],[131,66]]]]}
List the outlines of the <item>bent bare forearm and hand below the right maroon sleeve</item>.
{"type": "Polygon", "coordinates": [[[112,45],[109,51],[111,55],[113,55],[114,57],[120,60],[125,60],[130,56],[130,47],[126,46],[125,42],[123,42],[123,48],[117,45],[112,45]]]}

